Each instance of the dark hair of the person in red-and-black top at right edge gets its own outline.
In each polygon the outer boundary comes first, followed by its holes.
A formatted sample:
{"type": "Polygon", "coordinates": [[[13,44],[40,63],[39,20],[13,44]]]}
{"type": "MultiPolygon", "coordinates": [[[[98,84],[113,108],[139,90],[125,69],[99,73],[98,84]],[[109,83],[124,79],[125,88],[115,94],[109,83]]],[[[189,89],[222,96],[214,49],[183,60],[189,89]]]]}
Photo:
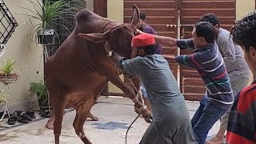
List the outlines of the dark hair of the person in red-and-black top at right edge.
{"type": "Polygon", "coordinates": [[[246,51],[250,46],[256,49],[256,11],[236,22],[230,30],[230,37],[236,44],[245,46],[246,51]]]}

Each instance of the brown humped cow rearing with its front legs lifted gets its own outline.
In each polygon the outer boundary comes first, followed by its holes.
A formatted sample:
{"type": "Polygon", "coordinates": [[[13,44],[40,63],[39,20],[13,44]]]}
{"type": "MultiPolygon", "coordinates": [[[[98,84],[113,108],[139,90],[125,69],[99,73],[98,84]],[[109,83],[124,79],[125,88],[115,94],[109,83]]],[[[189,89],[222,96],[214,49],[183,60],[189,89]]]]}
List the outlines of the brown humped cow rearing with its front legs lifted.
{"type": "MultiPolygon", "coordinates": [[[[139,19],[138,7],[134,6],[133,10],[132,22],[122,25],[108,18],[102,18],[90,10],[79,11],[74,30],[46,62],[46,86],[55,114],[55,144],[59,143],[66,104],[76,109],[73,123],[76,134],[82,142],[91,143],[86,138],[83,125],[108,81],[118,86],[134,101],[134,89],[122,82],[117,67],[107,57],[104,49],[104,44],[108,41],[118,54],[131,57],[130,42],[139,19]]],[[[134,106],[141,108],[142,104],[135,102],[134,106]]],[[[143,110],[142,115],[147,120],[150,118],[148,110],[143,110]]]]}

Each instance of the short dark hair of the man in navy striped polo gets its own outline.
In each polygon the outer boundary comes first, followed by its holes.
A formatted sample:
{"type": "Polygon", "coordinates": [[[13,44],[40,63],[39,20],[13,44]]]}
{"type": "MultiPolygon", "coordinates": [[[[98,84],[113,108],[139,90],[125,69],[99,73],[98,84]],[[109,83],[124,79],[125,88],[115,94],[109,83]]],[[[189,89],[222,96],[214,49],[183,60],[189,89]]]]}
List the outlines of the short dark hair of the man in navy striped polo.
{"type": "Polygon", "coordinates": [[[210,22],[198,22],[194,28],[198,37],[205,38],[207,43],[214,43],[215,30],[214,26],[210,22]]]}

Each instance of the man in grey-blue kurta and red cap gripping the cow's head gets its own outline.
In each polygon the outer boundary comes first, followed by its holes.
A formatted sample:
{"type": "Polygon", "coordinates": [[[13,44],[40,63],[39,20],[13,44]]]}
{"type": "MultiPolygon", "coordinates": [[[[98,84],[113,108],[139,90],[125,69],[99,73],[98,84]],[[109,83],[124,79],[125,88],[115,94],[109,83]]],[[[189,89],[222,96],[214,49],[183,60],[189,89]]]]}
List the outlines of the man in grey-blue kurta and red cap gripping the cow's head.
{"type": "Polygon", "coordinates": [[[139,76],[153,109],[153,122],[140,144],[198,144],[190,114],[168,62],[155,54],[153,34],[140,34],[132,39],[134,58],[120,57],[106,45],[110,59],[126,73],[139,76]]]}

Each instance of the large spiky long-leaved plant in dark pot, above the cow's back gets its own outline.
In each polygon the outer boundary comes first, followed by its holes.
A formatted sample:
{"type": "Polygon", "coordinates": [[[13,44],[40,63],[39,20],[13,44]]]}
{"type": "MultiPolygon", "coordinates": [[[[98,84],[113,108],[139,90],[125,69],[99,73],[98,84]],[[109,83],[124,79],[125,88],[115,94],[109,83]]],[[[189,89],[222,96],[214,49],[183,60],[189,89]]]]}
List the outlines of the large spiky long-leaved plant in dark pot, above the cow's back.
{"type": "Polygon", "coordinates": [[[37,36],[39,44],[54,43],[54,37],[58,38],[56,27],[67,30],[70,33],[62,22],[69,24],[66,18],[74,18],[74,11],[78,10],[78,5],[74,5],[66,0],[44,0],[43,2],[42,0],[36,0],[35,2],[33,0],[27,1],[34,7],[34,10],[22,7],[31,13],[25,14],[30,17],[30,22],[32,23],[32,27],[28,31],[28,39],[30,42],[33,40],[34,36],[37,36]],[[37,24],[34,24],[32,20],[36,20],[37,24]]]}

